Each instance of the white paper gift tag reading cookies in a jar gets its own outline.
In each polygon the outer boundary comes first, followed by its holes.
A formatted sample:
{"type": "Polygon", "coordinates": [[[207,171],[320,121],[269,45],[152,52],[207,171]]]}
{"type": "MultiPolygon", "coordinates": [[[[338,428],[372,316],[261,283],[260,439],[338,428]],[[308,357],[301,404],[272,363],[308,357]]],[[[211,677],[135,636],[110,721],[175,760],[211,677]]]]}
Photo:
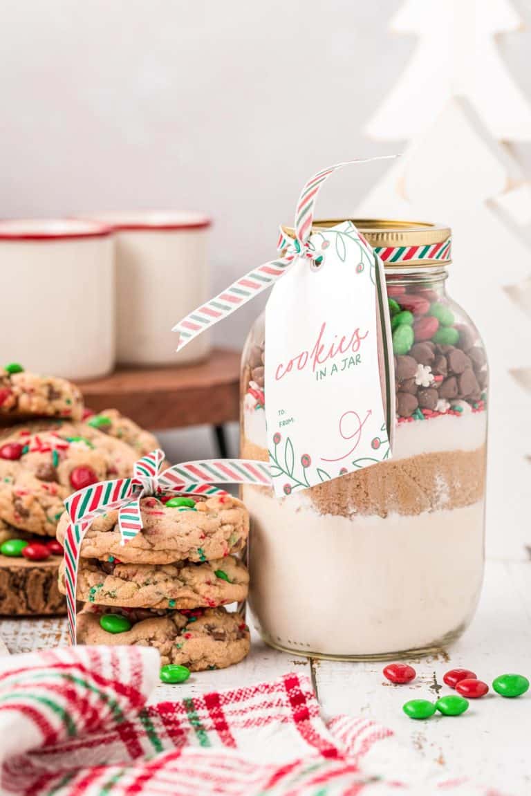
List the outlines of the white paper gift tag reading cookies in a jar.
{"type": "Polygon", "coordinates": [[[314,232],[266,307],[265,402],[278,496],[392,456],[394,369],[381,260],[350,221],[314,232]]]}

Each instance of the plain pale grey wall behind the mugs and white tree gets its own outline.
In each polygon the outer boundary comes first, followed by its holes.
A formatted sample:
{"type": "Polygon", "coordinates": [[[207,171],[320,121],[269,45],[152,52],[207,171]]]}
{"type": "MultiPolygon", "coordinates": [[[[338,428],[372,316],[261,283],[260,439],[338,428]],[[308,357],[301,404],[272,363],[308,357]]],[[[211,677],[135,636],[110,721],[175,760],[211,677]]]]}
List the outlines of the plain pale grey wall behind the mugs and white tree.
{"type": "MultiPolygon", "coordinates": [[[[403,146],[363,131],[416,46],[388,33],[399,5],[0,0],[0,216],[205,211],[220,290],[274,256],[312,171],[403,146]]],[[[515,6],[528,27],[500,46],[531,101],[531,2],[515,6]]],[[[517,154],[531,174],[531,145],[517,154]]],[[[387,167],[334,176],[319,212],[353,213],[387,167]]],[[[258,309],[217,341],[241,345],[258,309]]]]}

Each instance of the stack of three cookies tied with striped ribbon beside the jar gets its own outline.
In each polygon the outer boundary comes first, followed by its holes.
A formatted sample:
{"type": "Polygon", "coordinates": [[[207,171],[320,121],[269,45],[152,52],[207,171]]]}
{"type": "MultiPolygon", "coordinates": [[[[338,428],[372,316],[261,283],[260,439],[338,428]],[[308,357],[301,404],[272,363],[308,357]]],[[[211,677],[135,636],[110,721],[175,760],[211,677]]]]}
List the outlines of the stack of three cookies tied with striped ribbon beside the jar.
{"type": "MultiPolygon", "coordinates": [[[[93,521],[80,548],[77,642],[154,646],[163,666],[223,669],[249,650],[249,630],[228,603],[248,593],[238,554],[249,530],[247,509],[228,495],[143,497],[142,531],[125,544],[118,513],[93,521]]],[[[68,517],[57,538],[64,542],[68,517]]],[[[60,588],[64,591],[64,564],[60,588]]]]}

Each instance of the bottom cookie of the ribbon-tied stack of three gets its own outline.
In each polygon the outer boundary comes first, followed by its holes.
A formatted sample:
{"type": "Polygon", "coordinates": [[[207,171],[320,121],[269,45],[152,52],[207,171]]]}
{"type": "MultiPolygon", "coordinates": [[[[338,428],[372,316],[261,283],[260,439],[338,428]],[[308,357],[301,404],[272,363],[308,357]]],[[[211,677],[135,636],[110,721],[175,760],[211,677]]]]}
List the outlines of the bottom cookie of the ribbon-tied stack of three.
{"type": "Polygon", "coordinates": [[[109,633],[100,626],[100,617],[109,609],[85,606],[77,615],[80,644],[153,646],[161,654],[161,665],[187,666],[192,672],[225,669],[238,663],[250,648],[248,626],[239,614],[225,608],[198,608],[194,611],[132,610],[121,613],[131,621],[131,630],[109,633]]]}

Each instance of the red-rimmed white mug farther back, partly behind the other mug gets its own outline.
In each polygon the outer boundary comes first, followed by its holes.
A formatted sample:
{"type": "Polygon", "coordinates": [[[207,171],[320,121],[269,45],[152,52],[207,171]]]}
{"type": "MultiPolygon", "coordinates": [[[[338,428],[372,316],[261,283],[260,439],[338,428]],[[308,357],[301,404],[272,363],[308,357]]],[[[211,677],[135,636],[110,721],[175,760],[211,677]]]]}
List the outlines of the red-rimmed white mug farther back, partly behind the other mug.
{"type": "Polygon", "coordinates": [[[91,216],[115,239],[117,359],[166,365],[208,356],[208,334],[180,353],[171,329],[209,300],[210,220],[199,213],[139,211],[91,216]]]}

